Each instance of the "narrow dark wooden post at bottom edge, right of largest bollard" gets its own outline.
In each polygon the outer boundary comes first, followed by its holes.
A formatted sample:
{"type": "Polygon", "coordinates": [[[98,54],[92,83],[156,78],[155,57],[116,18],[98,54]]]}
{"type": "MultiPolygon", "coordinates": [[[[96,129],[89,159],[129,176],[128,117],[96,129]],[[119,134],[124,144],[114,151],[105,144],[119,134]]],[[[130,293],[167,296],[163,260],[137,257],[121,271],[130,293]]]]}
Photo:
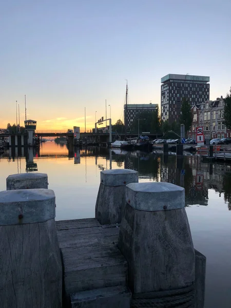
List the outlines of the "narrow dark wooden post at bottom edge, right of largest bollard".
{"type": "Polygon", "coordinates": [[[205,296],[206,257],[195,249],[195,259],[195,308],[203,308],[205,296]]]}

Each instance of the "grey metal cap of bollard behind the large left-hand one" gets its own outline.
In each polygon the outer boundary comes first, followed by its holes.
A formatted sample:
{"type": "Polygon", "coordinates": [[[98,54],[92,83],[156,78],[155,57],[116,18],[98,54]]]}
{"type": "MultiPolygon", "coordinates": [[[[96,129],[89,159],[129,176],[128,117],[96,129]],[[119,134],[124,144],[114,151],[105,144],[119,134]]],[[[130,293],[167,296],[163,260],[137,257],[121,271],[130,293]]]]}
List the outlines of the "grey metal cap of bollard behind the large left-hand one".
{"type": "Polygon", "coordinates": [[[47,174],[24,173],[7,177],[7,190],[48,188],[47,174]]]}

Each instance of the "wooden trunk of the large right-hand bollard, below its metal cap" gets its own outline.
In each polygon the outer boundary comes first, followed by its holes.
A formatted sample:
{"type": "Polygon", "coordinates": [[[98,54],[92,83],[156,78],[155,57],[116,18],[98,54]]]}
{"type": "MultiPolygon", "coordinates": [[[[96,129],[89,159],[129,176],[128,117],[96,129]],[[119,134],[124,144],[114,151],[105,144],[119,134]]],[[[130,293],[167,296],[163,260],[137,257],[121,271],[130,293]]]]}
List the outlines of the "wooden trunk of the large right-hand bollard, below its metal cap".
{"type": "Polygon", "coordinates": [[[195,280],[195,253],[185,209],[136,210],[126,204],[118,246],[132,293],[170,290],[195,280]]]}

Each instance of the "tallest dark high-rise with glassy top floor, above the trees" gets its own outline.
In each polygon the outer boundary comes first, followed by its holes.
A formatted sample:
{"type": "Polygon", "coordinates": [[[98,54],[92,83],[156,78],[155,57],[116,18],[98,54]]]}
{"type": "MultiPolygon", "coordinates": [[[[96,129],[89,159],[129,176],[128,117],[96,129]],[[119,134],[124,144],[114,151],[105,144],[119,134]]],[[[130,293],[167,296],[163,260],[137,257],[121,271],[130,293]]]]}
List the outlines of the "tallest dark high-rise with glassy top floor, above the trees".
{"type": "Polygon", "coordinates": [[[191,105],[209,100],[209,77],[168,74],[161,78],[161,119],[169,124],[179,118],[181,102],[188,98],[191,105]]]}

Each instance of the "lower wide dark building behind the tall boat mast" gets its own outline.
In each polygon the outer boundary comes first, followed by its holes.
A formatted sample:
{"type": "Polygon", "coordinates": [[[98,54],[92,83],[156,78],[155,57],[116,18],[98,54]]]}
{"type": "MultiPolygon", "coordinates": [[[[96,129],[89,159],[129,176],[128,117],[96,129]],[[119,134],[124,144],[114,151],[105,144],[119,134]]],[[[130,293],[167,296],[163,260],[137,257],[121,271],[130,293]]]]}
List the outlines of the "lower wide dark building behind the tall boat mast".
{"type": "Polygon", "coordinates": [[[136,119],[137,114],[143,111],[153,112],[158,108],[158,104],[128,104],[127,112],[126,105],[124,105],[124,124],[129,127],[131,123],[136,119]]]}

